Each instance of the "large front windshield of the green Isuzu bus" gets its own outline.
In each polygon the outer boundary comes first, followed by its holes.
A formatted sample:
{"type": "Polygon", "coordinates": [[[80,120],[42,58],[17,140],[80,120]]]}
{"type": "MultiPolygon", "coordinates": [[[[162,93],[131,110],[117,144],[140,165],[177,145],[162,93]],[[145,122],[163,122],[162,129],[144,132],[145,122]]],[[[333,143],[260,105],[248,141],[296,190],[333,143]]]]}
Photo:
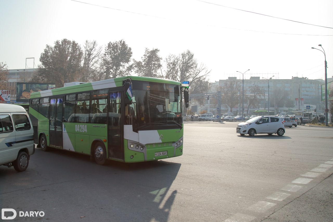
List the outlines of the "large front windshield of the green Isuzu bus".
{"type": "Polygon", "coordinates": [[[167,83],[132,81],[133,103],[129,112],[133,130],[181,128],[180,86],[167,83]]]}

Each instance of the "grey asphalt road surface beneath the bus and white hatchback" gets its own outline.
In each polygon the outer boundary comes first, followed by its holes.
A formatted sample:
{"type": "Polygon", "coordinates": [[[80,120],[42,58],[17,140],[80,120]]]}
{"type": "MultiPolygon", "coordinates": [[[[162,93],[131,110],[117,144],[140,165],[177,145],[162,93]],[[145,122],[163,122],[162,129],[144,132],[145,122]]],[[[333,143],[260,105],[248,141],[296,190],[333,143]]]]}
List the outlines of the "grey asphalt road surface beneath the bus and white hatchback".
{"type": "Polygon", "coordinates": [[[236,125],[185,122],[184,154],[157,162],[37,149],[25,172],[0,166],[0,207],[11,221],[333,221],[333,129],[249,137],[236,125]]]}

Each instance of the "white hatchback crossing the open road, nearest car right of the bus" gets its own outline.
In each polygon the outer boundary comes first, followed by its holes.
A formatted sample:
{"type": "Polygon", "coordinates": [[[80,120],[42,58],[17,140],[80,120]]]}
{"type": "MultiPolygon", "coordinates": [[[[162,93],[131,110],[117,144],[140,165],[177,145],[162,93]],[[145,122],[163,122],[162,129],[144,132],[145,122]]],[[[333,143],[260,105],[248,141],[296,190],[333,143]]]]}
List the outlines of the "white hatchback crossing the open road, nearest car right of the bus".
{"type": "Polygon", "coordinates": [[[257,116],[246,122],[239,123],[236,128],[236,133],[241,136],[245,134],[254,136],[259,133],[267,133],[268,135],[276,133],[279,136],[283,136],[284,132],[285,128],[281,118],[276,116],[257,116]]]}

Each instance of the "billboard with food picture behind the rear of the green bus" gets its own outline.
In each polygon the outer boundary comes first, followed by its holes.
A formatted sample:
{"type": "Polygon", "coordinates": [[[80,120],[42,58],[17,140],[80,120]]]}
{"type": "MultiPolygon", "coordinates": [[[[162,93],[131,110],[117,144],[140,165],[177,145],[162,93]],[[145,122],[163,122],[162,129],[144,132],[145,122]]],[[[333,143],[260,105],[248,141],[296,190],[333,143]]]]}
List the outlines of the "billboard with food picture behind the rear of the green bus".
{"type": "Polygon", "coordinates": [[[29,102],[31,93],[54,89],[55,87],[55,83],[18,82],[16,83],[16,102],[29,102]]]}

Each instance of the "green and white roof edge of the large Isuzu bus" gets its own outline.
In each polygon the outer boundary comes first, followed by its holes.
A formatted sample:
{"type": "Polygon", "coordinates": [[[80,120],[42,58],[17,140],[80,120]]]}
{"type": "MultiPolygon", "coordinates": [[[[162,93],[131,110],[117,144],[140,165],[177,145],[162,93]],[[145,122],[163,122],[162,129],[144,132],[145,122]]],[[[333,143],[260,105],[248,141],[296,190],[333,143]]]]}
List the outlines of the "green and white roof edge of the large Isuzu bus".
{"type": "Polygon", "coordinates": [[[160,79],[160,78],[144,77],[144,76],[124,76],[124,77],[118,77],[118,78],[114,78],[114,79],[105,79],[105,80],[100,80],[100,81],[96,81],[96,82],[82,83],[79,85],[72,85],[72,86],[66,86],[66,87],[61,87],[61,88],[56,88],[56,89],[49,89],[49,90],[44,90],[44,91],[40,91],[40,92],[33,92],[30,94],[30,98],[61,95],[61,94],[64,94],[63,91],[67,91],[66,93],[75,93],[78,91],[90,91],[90,90],[97,90],[97,89],[120,87],[123,85],[123,80],[125,80],[125,79],[180,85],[180,82],[169,80],[169,79],[160,79]]]}

